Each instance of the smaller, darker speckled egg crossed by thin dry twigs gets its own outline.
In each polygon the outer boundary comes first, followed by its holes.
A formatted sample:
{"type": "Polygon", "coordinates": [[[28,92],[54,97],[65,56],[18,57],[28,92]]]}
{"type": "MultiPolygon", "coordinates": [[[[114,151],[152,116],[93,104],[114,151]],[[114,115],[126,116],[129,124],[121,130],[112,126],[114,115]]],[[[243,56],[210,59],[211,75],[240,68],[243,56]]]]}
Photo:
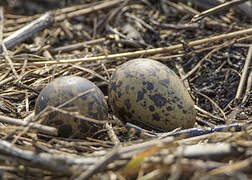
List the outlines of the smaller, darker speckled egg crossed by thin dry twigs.
{"type": "MultiPolygon", "coordinates": [[[[91,81],[77,76],[57,78],[42,89],[35,104],[35,115],[47,106],[59,107],[71,99],[73,101],[60,109],[96,120],[107,119],[108,107],[101,90],[91,81]]],[[[87,137],[101,128],[101,125],[56,111],[45,113],[43,118],[42,124],[56,127],[60,137],[87,137]]]]}

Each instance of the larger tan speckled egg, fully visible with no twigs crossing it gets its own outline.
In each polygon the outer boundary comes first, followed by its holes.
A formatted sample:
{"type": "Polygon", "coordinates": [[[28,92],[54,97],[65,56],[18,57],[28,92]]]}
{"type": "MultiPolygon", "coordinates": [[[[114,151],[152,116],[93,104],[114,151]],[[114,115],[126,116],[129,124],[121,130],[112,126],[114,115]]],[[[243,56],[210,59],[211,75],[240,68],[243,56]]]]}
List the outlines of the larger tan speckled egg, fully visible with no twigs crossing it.
{"type": "Polygon", "coordinates": [[[191,128],[194,102],[178,76],[166,65],[135,59],[119,66],[109,84],[109,104],[122,121],[146,129],[191,128]]]}

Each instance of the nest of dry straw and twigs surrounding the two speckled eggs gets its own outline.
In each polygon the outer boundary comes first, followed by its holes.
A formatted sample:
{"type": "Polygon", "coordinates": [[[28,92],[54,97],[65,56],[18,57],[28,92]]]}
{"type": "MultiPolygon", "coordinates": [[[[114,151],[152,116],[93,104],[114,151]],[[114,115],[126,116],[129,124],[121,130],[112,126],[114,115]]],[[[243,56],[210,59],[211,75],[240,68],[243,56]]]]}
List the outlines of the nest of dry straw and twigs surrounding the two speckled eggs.
{"type": "Polygon", "coordinates": [[[242,2],[1,1],[2,179],[251,179],[252,21],[232,8],[242,2]],[[71,139],[34,116],[54,78],[85,77],[107,96],[115,68],[138,57],[181,77],[194,128],[147,131],[110,111],[93,137],[71,139]]]}

